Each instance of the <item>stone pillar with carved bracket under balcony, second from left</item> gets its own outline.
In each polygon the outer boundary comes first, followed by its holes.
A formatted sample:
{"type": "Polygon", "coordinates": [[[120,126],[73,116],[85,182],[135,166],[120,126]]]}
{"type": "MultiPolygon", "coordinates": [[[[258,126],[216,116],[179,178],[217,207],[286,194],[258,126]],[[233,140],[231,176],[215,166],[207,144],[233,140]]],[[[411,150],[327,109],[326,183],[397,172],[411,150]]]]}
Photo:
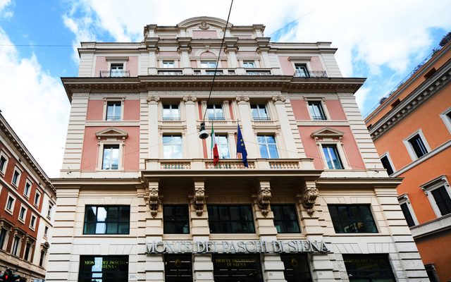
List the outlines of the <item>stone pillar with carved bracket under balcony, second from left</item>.
{"type": "MultiPolygon", "coordinates": [[[[205,182],[202,178],[194,179],[194,196],[190,207],[192,240],[208,241],[209,216],[205,205],[205,182]]],[[[211,254],[196,254],[193,259],[193,281],[213,282],[211,254]]]]}

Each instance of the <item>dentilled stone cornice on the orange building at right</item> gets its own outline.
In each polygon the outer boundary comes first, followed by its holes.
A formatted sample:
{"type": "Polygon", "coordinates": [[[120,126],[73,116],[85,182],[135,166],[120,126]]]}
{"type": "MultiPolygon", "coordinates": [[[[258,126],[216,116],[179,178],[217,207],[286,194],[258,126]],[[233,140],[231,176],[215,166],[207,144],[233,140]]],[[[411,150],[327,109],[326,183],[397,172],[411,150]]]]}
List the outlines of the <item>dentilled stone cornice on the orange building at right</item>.
{"type": "Polygon", "coordinates": [[[445,85],[450,83],[451,77],[451,61],[448,61],[440,68],[431,79],[426,80],[423,85],[419,86],[409,96],[402,100],[394,109],[388,112],[381,120],[375,123],[369,133],[373,140],[378,139],[395,124],[402,121],[404,117],[417,109],[421,104],[427,101],[433,95],[437,94],[445,85]]]}

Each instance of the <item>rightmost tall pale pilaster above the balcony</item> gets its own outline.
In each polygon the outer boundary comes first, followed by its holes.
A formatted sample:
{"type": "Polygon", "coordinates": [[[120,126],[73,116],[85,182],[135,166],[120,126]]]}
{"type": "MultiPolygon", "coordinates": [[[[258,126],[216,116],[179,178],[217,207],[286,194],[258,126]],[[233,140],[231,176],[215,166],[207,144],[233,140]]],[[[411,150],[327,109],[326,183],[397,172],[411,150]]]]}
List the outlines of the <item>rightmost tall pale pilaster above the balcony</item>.
{"type": "Polygon", "coordinates": [[[283,142],[285,143],[285,151],[283,154],[285,156],[290,156],[290,158],[299,158],[297,153],[295,138],[292,135],[290,120],[288,119],[288,114],[285,109],[286,98],[282,95],[273,96],[273,102],[276,106],[277,116],[280,123],[280,131],[282,132],[283,142]]]}

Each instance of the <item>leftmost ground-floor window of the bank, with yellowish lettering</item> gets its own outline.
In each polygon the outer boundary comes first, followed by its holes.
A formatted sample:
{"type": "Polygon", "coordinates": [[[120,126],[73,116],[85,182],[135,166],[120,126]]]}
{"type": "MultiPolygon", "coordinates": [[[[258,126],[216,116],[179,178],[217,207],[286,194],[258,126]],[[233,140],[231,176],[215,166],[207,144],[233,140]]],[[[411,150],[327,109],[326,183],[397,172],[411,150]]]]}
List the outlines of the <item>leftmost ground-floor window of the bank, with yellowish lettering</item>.
{"type": "Polygon", "coordinates": [[[127,282],[128,256],[80,256],[78,282],[127,282]]]}

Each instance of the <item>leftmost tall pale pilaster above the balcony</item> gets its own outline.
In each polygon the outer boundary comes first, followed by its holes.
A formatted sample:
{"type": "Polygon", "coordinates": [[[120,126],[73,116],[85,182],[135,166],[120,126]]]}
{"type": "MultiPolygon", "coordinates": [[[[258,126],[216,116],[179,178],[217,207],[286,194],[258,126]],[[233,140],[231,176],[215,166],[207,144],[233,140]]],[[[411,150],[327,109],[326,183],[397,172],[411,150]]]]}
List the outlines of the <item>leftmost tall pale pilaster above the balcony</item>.
{"type": "Polygon", "coordinates": [[[159,156],[159,140],[158,131],[158,102],[160,97],[152,96],[149,91],[147,104],[149,104],[149,159],[160,159],[159,156]]]}

